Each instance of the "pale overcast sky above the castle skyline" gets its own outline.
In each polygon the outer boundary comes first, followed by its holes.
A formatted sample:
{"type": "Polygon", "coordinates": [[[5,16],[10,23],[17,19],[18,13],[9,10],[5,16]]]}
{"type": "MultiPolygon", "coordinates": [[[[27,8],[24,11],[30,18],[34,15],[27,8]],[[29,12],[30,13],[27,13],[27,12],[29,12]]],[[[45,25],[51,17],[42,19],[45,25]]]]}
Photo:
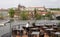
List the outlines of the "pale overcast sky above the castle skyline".
{"type": "Polygon", "coordinates": [[[49,8],[60,8],[60,0],[0,0],[0,8],[17,7],[18,4],[26,7],[45,6],[49,8]]]}

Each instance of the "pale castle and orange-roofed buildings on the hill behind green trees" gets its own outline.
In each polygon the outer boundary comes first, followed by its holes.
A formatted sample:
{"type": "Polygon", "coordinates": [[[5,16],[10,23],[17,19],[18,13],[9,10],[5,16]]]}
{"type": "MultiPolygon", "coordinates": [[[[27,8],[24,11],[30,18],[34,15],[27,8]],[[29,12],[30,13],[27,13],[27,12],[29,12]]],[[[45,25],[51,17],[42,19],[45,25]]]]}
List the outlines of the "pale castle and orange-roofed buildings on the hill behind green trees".
{"type": "MultiPolygon", "coordinates": [[[[53,12],[54,14],[60,14],[60,11],[51,11],[49,8],[45,7],[25,7],[18,5],[18,7],[13,8],[15,10],[15,16],[19,16],[19,13],[21,11],[26,11],[29,13],[29,15],[34,15],[34,9],[36,9],[38,14],[44,15],[47,14],[47,11],[53,12]]],[[[2,13],[4,16],[8,16],[9,9],[0,9],[0,13],[2,13]]]]}

